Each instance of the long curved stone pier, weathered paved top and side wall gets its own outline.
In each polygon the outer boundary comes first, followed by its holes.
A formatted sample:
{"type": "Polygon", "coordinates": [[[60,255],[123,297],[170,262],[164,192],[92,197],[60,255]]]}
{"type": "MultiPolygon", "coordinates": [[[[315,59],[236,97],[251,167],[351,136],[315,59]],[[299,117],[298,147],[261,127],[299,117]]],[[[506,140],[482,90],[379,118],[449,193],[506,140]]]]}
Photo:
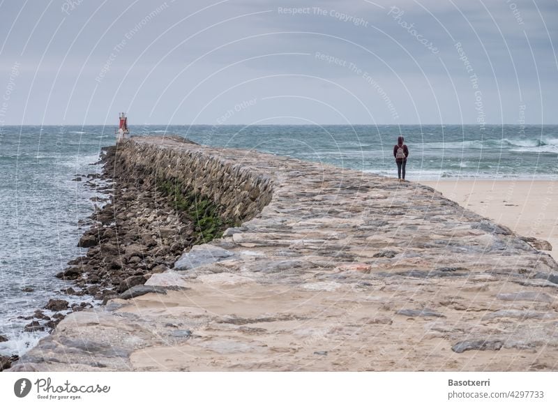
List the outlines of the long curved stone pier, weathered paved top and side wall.
{"type": "Polygon", "coordinates": [[[432,188],[172,139],[119,148],[244,222],[66,317],[12,370],[558,368],[556,262],[432,188]]]}

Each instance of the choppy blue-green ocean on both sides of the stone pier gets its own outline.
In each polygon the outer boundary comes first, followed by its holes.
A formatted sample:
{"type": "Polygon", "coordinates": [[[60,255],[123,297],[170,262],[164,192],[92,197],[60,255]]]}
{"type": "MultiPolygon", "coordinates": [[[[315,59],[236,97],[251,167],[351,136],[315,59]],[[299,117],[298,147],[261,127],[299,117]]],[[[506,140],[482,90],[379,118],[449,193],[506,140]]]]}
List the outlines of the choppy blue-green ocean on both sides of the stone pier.
{"type": "MultiPolygon", "coordinates": [[[[558,126],[130,126],[133,135],[181,135],[199,144],[255,149],[395,176],[393,145],[409,146],[407,179],[557,179],[558,126]]],[[[54,275],[84,255],[77,241],[98,196],[76,175],[97,173],[103,126],[0,128],[0,354],[22,354],[46,334],[23,333],[48,299],[71,303],[54,275]],[[27,290],[27,291],[24,291],[27,290]]],[[[45,314],[50,314],[45,311],[45,314]]]]}

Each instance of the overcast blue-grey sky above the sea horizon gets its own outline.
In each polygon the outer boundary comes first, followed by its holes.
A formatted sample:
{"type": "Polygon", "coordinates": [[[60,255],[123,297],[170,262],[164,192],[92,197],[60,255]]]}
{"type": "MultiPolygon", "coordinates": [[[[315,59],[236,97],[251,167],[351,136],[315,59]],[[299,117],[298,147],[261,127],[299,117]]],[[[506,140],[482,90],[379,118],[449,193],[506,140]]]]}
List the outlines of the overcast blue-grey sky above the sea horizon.
{"type": "Polygon", "coordinates": [[[555,124],[557,0],[0,0],[0,125],[555,124]]]}

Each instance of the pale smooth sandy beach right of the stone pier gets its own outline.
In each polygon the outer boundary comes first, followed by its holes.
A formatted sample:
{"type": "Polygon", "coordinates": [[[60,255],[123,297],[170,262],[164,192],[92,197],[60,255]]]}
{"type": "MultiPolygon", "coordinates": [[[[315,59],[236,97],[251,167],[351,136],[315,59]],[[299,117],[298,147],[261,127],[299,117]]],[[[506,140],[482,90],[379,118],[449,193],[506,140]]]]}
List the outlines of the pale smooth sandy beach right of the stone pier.
{"type": "Polygon", "coordinates": [[[510,227],[521,236],[552,244],[558,259],[556,181],[421,181],[463,207],[510,227]]]}

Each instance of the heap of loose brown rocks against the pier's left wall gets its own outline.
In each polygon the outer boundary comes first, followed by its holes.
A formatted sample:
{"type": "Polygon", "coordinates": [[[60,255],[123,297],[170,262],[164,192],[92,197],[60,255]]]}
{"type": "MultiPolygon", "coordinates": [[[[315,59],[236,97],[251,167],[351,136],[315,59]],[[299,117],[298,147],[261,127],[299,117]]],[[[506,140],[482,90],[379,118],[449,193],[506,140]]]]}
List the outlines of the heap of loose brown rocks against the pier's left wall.
{"type": "Polygon", "coordinates": [[[172,267],[185,248],[203,242],[188,208],[177,210],[149,170],[128,166],[116,146],[105,152],[102,177],[113,182],[112,202],[91,216],[93,225],[79,242],[86,255],[56,275],[74,281],[67,293],[103,301],[143,285],[172,267]]]}

